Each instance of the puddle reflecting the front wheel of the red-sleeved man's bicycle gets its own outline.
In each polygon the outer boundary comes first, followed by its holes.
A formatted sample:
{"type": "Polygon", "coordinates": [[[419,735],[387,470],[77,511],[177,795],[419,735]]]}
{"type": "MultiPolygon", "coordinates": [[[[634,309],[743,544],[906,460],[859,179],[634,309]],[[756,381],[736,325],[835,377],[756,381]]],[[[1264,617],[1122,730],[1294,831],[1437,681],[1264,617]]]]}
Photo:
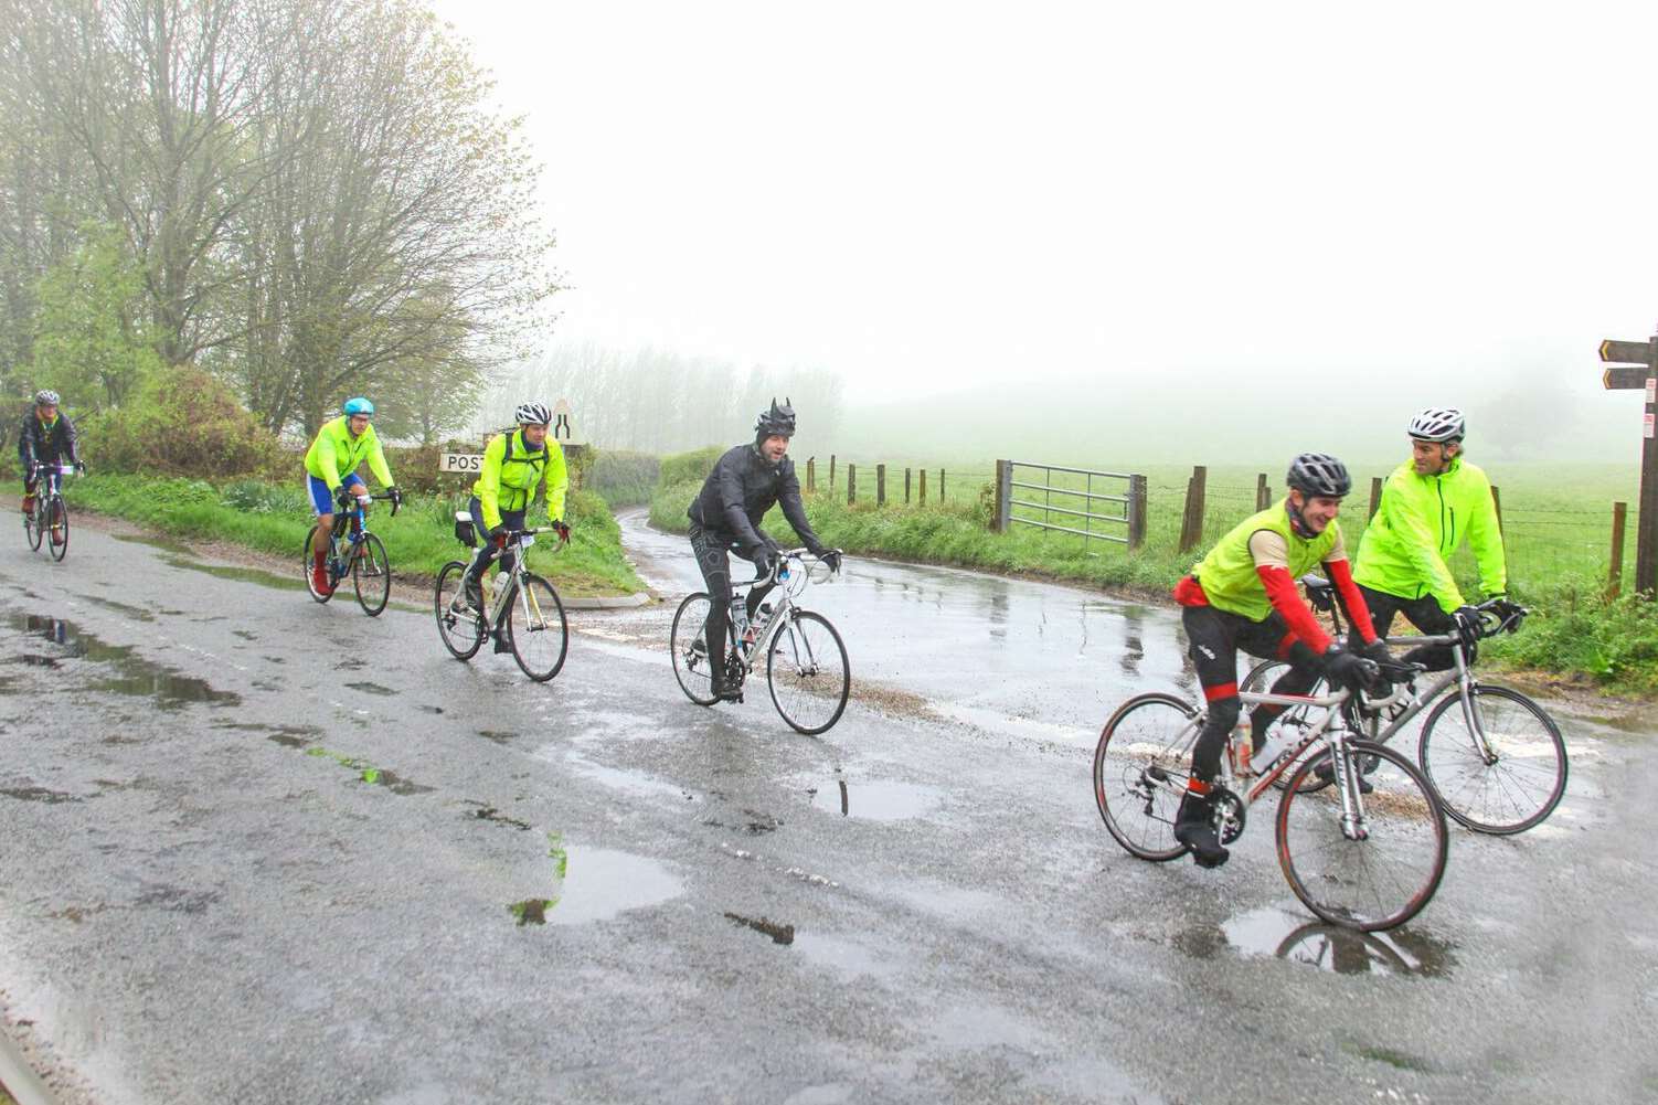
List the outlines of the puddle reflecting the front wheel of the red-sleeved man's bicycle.
{"type": "Polygon", "coordinates": [[[1451,944],[1408,926],[1389,932],[1355,932],[1323,921],[1263,906],[1204,924],[1174,937],[1174,946],[1194,959],[1222,954],[1275,956],[1333,974],[1396,974],[1424,979],[1449,977],[1456,966],[1451,944]]]}

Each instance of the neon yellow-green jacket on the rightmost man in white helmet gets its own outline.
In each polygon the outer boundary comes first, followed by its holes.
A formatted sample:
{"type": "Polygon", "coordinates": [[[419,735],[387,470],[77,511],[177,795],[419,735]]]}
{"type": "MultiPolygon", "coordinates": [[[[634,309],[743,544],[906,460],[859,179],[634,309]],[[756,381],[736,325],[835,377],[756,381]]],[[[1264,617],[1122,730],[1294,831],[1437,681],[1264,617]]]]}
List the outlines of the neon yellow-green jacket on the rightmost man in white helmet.
{"type": "Polygon", "coordinates": [[[1467,539],[1487,597],[1507,594],[1509,571],[1491,481],[1461,456],[1437,476],[1418,476],[1411,461],[1393,470],[1381,506],[1358,543],[1353,581],[1398,596],[1434,596],[1446,614],[1464,604],[1446,561],[1467,539]]]}

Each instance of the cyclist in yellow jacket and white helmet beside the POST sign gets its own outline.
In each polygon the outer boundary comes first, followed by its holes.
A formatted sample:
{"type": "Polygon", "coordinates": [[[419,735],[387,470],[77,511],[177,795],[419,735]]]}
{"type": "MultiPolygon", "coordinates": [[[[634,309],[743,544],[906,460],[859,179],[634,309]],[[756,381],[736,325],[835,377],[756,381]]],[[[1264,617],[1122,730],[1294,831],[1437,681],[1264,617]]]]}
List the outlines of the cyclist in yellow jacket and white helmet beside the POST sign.
{"type": "MultiPolygon", "coordinates": [[[[564,450],[557,441],[547,441],[552,411],[542,403],[522,403],[512,418],[519,428],[489,440],[484,446],[482,468],[473,484],[473,524],[484,534],[484,541],[478,556],[466,566],[461,597],[456,599],[458,614],[466,612],[466,604],[474,611],[484,609],[482,579],[491,561],[499,556],[502,567],[511,571],[512,552],[507,549],[507,534],[526,529],[524,519],[537,484],[547,488],[547,519],[559,531],[559,539],[570,539],[570,528],[564,523],[564,498],[570,486],[564,450]]],[[[509,649],[496,635],[496,652],[509,649]]]]}

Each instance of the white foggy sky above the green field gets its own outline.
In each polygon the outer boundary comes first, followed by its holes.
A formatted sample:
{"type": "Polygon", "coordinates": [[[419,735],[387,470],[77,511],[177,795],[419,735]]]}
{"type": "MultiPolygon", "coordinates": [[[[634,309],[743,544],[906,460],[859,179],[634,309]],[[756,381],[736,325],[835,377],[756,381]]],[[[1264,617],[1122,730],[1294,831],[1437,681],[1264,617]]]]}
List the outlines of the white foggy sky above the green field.
{"type": "Polygon", "coordinates": [[[728,367],[725,438],[811,372],[814,451],[1640,455],[1653,5],[436,7],[547,163],[549,348],[728,367]]]}

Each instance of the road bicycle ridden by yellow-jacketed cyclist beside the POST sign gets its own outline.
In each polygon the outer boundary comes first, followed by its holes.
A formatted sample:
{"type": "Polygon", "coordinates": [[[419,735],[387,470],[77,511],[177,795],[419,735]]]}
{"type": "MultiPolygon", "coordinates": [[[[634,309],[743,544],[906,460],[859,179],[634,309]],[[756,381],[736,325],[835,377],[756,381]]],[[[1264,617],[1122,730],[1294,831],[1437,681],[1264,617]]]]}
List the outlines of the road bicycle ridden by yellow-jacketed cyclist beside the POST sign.
{"type": "MultiPolygon", "coordinates": [[[[456,511],[454,521],[454,533],[461,543],[476,548],[473,516],[456,511]]],[[[544,533],[557,533],[555,548],[562,549],[570,531],[564,526],[537,526],[504,534],[502,556],[511,551],[512,569],[502,572],[506,579],[497,579],[492,587],[487,579],[489,571],[484,571],[484,579],[479,581],[484,591],[482,611],[473,609],[466,601],[464,561],[449,561],[438,572],[438,587],[433,592],[438,637],[456,660],[471,660],[484,639],[494,637],[496,650],[512,652],[519,669],[537,684],[547,682],[564,667],[564,654],[570,647],[570,626],[564,619],[564,604],[559,602],[557,589],[529,571],[524,562],[524,554],[544,533]]]]}

